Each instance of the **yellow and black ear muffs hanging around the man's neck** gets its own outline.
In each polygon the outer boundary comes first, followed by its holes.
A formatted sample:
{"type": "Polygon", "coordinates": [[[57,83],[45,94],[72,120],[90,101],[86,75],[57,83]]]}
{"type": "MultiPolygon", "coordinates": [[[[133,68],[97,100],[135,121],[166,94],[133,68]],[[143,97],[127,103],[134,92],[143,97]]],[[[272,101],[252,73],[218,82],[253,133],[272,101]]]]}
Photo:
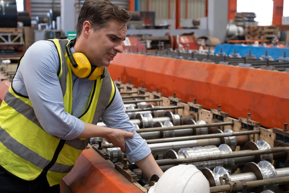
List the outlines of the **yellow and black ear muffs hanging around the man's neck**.
{"type": "Polygon", "coordinates": [[[98,67],[91,65],[88,58],[80,53],[71,52],[71,47],[75,45],[76,38],[71,40],[70,43],[66,46],[67,56],[70,61],[71,70],[79,78],[88,78],[89,80],[96,80],[99,77],[104,78],[104,67],[98,67]]]}

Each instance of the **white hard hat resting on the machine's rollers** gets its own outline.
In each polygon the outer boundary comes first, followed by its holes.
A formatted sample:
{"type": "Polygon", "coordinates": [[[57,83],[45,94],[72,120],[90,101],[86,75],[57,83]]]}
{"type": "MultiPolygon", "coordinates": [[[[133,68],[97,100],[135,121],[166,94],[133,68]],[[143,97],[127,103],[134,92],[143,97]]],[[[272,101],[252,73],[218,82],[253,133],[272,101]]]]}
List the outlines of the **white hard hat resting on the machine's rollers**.
{"type": "Polygon", "coordinates": [[[174,166],[160,177],[148,193],[210,193],[210,185],[203,173],[190,165],[174,166]]]}

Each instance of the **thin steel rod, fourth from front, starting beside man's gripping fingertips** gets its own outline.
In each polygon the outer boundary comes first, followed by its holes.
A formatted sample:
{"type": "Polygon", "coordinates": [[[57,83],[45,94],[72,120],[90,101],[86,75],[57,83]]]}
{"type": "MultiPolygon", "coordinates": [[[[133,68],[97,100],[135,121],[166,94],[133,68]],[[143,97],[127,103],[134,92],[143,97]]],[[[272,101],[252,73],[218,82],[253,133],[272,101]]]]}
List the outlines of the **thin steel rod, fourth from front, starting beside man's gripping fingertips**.
{"type": "Polygon", "coordinates": [[[202,127],[226,126],[226,125],[233,125],[233,124],[234,122],[220,122],[220,123],[208,123],[208,124],[199,124],[199,125],[180,125],[180,126],[173,126],[170,128],[155,127],[155,128],[139,129],[136,132],[142,133],[142,132],[176,130],[176,129],[192,129],[192,128],[194,129],[194,128],[202,128],[202,127]]]}

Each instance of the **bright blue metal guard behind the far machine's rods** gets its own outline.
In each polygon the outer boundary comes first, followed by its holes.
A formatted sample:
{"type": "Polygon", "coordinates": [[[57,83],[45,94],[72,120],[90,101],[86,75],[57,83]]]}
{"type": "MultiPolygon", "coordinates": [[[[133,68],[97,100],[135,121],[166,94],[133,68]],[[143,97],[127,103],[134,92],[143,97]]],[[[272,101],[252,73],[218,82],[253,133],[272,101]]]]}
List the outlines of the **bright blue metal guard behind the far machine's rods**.
{"type": "Polygon", "coordinates": [[[274,60],[277,60],[279,57],[284,56],[284,52],[286,52],[286,57],[289,57],[289,49],[285,48],[277,48],[277,47],[255,47],[252,45],[234,45],[234,44],[218,44],[216,45],[214,54],[218,52],[225,52],[227,55],[234,53],[234,49],[236,49],[236,53],[239,53],[240,56],[245,56],[249,54],[249,50],[251,49],[251,54],[255,55],[257,58],[264,56],[267,50],[267,55],[272,56],[274,60]]]}

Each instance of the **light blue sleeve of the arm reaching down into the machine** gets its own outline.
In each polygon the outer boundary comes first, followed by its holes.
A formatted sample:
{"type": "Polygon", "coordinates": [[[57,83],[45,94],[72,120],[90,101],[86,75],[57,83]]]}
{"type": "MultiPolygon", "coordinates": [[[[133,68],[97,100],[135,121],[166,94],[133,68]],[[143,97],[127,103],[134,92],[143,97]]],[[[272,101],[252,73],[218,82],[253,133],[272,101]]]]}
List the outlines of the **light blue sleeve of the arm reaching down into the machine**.
{"type": "Polygon", "coordinates": [[[101,119],[107,127],[118,128],[134,134],[134,139],[125,139],[125,151],[127,159],[131,163],[140,161],[151,153],[146,140],[136,133],[136,126],[129,122],[129,116],[125,113],[124,104],[118,89],[116,89],[114,100],[105,109],[101,119]]]}

